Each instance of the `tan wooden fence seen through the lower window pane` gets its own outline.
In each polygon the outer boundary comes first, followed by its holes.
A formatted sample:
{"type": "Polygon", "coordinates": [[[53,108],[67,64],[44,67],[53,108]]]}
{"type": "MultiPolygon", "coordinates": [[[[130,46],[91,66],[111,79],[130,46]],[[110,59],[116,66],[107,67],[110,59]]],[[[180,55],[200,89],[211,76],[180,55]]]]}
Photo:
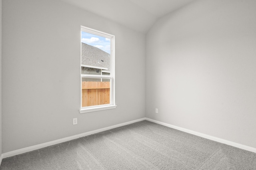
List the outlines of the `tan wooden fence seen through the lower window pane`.
{"type": "Polygon", "coordinates": [[[82,107],[110,104],[110,82],[83,81],[82,107]]]}

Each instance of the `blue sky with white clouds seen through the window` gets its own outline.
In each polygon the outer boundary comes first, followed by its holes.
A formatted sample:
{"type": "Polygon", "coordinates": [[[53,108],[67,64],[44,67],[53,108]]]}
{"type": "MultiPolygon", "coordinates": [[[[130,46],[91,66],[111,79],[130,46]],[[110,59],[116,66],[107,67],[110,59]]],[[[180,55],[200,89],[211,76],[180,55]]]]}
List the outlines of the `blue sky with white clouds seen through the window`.
{"type": "Polygon", "coordinates": [[[81,42],[92,45],[110,54],[110,39],[82,32],[81,42]]]}

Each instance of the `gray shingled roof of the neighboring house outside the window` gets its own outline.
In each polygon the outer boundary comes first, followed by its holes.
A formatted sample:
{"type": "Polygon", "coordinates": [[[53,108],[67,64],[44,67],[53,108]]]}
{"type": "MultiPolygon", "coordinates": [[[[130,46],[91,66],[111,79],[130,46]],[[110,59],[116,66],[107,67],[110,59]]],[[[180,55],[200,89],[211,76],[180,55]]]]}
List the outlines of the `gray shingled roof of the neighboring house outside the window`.
{"type": "Polygon", "coordinates": [[[102,67],[110,71],[110,54],[86,43],[82,43],[81,63],[90,65],[92,68],[102,67]]]}

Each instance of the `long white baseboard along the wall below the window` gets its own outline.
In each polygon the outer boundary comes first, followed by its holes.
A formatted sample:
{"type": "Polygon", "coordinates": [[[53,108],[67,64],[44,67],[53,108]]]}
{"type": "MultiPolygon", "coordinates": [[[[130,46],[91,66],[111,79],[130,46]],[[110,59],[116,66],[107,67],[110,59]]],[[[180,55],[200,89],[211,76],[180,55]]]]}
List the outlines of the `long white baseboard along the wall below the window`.
{"type": "Polygon", "coordinates": [[[118,125],[113,125],[113,126],[106,127],[106,128],[100,128],[100,129],[97,129],[97,130],[92,130],[90,132],[85,132],[85,133],[77,134],[77,135],[74,135],[74,136],[69,136],[69,137],[54,140],[54,141],[51,141],[51,142],[46,142],[46,143],[37,144],[37,145],[34,145],[34,146],[29,146],[29,147],[26,147],[26,148],[14,150],[14,151],[11,151],[11,152],[6,152],[6,153],[3,153],[1,155],[1,157],[0,157],[1,162],[2,162],[3,158],[8,158],[10,156],[15,156],[15,155],[18,155],[18,154],[23,154],[23,153],[30,152],[30,151],[37,150],[37,149],[41,149],[41,148],[44,148],[44,147],[47,147],[47,146],[52,146],[54,144],[67,142],[69,140],[74,140],[74,139],[77,139],[77,138],[81,138],[81,137],[88,136],[88,135],[91,135],[91,134],[103,132],[105,130],[110,130],[112,128],[122,127],[122,126],[125,126],[125,125],[129,125],[129,124],[144,121],[144,120],[146,120],[146,118],[137,119],[137,120],[129,121],[129,122],[126,122],[126,123],[120,123],[118,125]]]}

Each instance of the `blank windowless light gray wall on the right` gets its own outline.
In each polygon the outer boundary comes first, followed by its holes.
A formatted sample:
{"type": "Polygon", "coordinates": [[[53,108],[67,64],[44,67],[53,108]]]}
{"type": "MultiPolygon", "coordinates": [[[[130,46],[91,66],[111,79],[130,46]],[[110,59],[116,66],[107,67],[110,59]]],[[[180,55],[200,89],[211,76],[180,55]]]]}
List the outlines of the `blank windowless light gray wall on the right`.
{"type": "Polygon", "coordinates": [[[154,24],[147,118],[256,148],[255,8],[255,0],[197,0],[154,24]]]}

